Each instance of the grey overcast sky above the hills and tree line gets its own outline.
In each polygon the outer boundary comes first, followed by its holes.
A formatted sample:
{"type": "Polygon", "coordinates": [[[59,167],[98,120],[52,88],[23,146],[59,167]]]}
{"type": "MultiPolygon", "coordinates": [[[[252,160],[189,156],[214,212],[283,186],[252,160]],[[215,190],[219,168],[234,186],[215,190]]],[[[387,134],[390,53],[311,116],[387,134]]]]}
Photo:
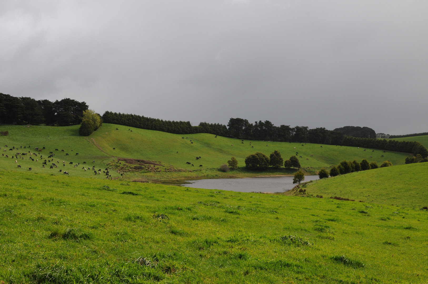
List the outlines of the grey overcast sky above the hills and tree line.
{"type": "Polygon", "coordinates": [[[428,1],[0,1],[0,92],[227,124],[428,131],[428,1]]]}

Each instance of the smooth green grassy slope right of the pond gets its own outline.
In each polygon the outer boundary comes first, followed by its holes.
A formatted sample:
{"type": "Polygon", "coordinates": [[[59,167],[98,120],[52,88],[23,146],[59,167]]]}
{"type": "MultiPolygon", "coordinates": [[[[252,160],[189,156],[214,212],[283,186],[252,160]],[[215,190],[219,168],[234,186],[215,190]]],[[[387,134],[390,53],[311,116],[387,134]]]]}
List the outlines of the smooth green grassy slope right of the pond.
{"type": "Polygon", "coordinates": [[[354,172],[308,183],[306,194],[419,209],[428,206],[428,163],[354,172]]]}

